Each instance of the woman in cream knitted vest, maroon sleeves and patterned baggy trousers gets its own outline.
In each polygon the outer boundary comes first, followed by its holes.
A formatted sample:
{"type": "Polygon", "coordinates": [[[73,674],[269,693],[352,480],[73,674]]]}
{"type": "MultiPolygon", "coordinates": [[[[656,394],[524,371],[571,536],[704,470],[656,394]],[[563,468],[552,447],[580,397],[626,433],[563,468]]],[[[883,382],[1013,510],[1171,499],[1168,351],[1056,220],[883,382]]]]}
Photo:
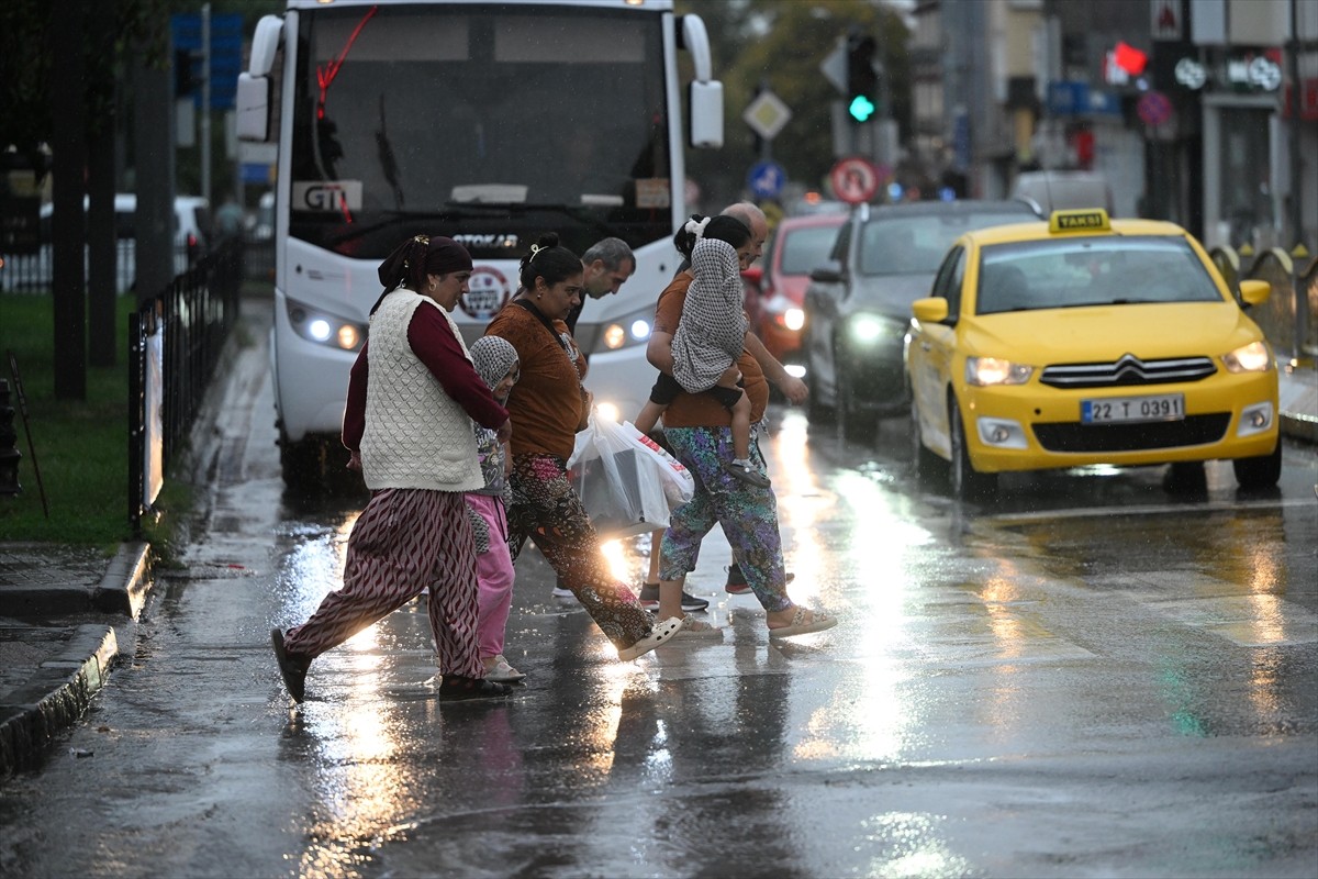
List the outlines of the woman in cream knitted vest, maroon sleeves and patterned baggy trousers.
{"type": "Polygon", "coordinates": [[[445,237],[416,236],[380,265],[385,291],[352,366],[343,444],[370,502],[348,536],[343,588],[307,622],[274,629],[283,684],[301,702],[320,654],[428,592],[439,698],[507,696],[484,680],[477,640],[476,543],[464,493],[485,485],[472,422],[511,435],[507,410],[472,366],[449,311],[472,257],[445,237]]]}

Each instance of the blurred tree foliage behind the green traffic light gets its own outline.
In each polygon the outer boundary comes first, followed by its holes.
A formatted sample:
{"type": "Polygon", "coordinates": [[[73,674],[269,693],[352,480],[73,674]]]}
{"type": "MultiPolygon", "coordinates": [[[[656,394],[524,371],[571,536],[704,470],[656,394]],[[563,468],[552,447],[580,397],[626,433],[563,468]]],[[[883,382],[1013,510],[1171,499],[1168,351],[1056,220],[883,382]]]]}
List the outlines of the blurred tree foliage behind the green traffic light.
{"type": "Polygon", "coordinates": [[[821,186],[836,161],[832,104],[841,95],[820,71],[820,62],[853,29],[878,42],[891,115],[900,130],[909,130],[909,30],[900,13],[880,0],[679,0],[677,12],[693,12],[705,21],[714,75],[724,83],[724,149],[688,156],[688,175],[713,200],[738,196],[746,171],[760,158],[755,136],[741,117],[759,87],[792,111],[770,145],[774,161],[792,181],[821,186]]]}

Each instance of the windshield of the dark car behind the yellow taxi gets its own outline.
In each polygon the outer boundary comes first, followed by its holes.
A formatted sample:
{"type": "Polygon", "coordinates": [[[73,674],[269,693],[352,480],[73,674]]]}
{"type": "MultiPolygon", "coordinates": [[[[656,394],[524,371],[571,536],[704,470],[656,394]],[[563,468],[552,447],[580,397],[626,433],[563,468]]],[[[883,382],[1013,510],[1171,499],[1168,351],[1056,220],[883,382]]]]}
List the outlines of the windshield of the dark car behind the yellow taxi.
{"type": "Polygon", "coordinates": [[[1019,211],[875,217],[861,232],[859,271],[866,275],[933,274],[952,242],[966,232],[1033,219],[1024,206],[1019,211]]]}

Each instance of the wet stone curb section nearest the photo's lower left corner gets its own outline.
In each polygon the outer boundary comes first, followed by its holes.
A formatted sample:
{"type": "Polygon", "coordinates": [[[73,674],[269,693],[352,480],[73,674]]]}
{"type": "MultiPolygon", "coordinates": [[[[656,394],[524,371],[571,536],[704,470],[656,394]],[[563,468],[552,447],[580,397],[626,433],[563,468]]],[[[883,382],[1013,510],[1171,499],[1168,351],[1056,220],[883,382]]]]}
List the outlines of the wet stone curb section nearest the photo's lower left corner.
{"type": "Polygon", "coordinates": [[[111,626],[78,626],[53,659],[42,662],[32,680],[0,706],[0,779],[41,762],[51,739],[74,726],[105,684],[119,656],[111,626]]]}

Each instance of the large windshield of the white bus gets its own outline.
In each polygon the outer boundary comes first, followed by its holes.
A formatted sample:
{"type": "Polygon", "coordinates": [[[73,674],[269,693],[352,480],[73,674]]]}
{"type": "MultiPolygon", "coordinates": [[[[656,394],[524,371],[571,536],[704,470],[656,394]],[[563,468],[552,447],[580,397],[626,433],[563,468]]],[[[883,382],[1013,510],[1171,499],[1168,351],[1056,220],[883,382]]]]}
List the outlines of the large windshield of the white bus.
{"type": "Polygon", "coordinates": [[[410,235],[517,258],[667,237],[658,16],[529,5],[303,11],[289,233],[378,260],[410,235]]]}

